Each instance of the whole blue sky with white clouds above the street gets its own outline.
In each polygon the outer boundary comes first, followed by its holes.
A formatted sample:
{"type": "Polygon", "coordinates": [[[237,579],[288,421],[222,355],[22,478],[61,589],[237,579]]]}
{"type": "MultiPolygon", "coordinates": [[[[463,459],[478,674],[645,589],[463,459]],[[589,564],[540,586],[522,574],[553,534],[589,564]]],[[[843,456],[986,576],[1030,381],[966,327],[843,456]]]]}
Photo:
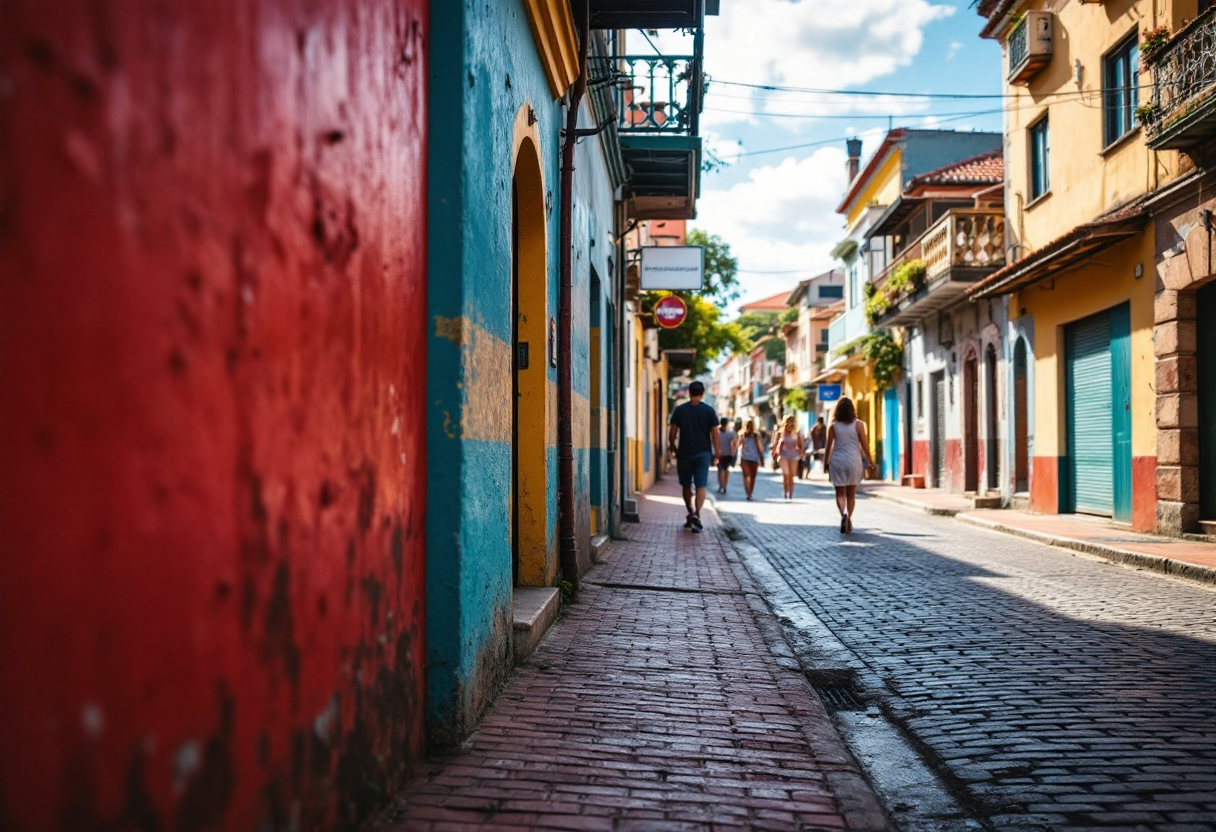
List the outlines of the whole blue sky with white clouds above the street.
{"type": "MultiPolygon", "coordinates": [[[[738,303],[832,268],[843,237],[846,136],[862,163],[888,125],[1001,130],[998,97],[822,95],[741,84],[872,94],[1001,94],[998,45],[979,36],[970,0],[722,0],[706,18],[711,77],[702,135],[727,164],[702,175],[694,227],[730,243],[738,303]],[[794,116],[789,116],[794,114],[794,116]],[[890,117],[890,118],[889,118],[890,117]],[[817,144],[816,142],[822,142],[817,144]],[[815,145],[779,152],[798,145],[815,145]]],[[[664,51],[680,49],[663,34],[664,51]]],[[[631,43],[638,51],[644,41],[631,43]]]]}

